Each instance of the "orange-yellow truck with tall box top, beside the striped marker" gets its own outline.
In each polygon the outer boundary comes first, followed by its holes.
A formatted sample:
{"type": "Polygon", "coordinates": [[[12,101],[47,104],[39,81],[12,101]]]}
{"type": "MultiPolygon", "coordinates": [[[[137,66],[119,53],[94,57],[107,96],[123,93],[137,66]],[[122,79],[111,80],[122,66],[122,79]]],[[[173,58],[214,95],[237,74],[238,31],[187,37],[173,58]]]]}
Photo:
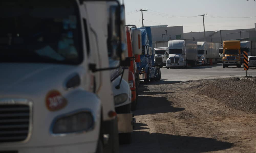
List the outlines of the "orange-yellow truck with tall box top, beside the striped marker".
{"type": "Polygon", "coordinates": [[[223,68],[227,68],[231,65],[235,65],[240,68],[242,65],[240,62],[240,54],[240,41],[223,41],[223,68]]]}

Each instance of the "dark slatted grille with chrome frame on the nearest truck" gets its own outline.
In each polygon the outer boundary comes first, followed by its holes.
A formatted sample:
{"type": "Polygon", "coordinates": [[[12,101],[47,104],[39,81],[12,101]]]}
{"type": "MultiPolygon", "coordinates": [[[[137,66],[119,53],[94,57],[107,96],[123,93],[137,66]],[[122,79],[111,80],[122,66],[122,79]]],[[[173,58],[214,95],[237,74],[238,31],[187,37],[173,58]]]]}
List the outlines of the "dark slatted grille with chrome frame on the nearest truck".
{"type": "MultiPolygon", "coordinates": [[[[1,103],[0,143],[25,141],[31,130],[32,105],[29,103],[1,103]]],[[[8,101],[10,102],[10,101],[8,101]]]]}

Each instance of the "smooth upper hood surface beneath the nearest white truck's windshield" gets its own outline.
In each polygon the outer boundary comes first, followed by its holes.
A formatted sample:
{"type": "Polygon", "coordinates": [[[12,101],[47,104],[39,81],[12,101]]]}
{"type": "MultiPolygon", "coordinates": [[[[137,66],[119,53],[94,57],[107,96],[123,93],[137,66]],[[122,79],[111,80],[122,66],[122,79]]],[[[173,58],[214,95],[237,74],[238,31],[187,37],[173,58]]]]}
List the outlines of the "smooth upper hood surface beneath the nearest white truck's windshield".
{"type": "Polygon", "coordinates": [[[1,63],[0,71],[0,93],[34,93],[63,85],[63,81],[75,68],[57,64],[1,63]]]}

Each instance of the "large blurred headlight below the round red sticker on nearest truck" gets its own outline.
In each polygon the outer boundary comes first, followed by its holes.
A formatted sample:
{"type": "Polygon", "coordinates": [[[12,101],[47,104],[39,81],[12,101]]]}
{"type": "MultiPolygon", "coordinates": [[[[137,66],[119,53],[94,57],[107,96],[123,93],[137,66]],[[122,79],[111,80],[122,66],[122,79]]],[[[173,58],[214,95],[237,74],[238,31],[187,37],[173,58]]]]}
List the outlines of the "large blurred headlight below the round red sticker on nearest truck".
{"type": "Polygon", "coordinates": [[[91,112],[77,112],[58,118],[52,127],[52,133],[65,134],[93,129],[94,119],[91,112]]]}

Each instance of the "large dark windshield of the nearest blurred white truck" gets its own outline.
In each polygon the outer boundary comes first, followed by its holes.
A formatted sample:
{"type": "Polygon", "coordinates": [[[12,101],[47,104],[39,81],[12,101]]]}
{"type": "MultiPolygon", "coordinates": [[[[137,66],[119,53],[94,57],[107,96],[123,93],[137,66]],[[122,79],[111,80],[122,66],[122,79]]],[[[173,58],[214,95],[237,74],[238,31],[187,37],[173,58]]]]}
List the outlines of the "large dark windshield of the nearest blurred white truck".
{"type": "Polygon", "coordinates": [[[82,62],[75,1],[2,0],[0,62],[82,62]]]}

